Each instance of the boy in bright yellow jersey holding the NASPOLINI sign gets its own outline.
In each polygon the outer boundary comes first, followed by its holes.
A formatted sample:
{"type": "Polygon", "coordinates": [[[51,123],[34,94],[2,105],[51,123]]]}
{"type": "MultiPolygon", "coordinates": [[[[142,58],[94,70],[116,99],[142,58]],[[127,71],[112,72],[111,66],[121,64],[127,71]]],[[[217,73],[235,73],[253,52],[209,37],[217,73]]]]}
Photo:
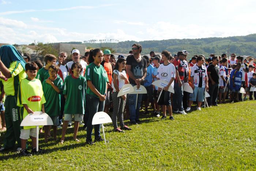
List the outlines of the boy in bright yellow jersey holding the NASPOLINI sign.
{"type": "MultiPolygon", "coordinates": [[[[41,81],[35,79],[37,75],[37,64],[34,62],[29,62],[25,65],[27,78],[20,81],[19,92],[18,92],[18,102],[17,105],[20,106],[20,118],[23,120],[28,114],[34,113],[34,111],[45,112],[44,103],[45,97],[42,89],[41,81]]],[[[21,127],[20,131],[20,141],[21,148],[20,155],[31,156],[31,153],[36,153],[36,127],[35,126],[24,126],[21,127]],[[31,136],[32,139],[32,150],[31,153],[26,149],[27,139],[31,136]]],[[[44,150],[38,148],[38,152],[42,153],[44,150]]]]}

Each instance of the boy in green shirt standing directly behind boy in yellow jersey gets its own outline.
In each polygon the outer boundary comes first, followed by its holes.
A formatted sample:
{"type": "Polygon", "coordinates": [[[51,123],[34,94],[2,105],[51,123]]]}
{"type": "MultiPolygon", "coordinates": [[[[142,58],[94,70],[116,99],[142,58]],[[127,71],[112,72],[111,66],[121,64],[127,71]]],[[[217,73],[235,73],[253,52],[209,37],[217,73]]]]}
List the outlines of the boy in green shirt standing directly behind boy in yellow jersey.
{"type": "Polygon", "coordinates": [[[43,83],[44,80],[49,78],[49,67],[52,64],[56,64],[57,57],[52,54],[45,55],[45,67],[39,69],[37,72],[37,79],[43,83]]]}

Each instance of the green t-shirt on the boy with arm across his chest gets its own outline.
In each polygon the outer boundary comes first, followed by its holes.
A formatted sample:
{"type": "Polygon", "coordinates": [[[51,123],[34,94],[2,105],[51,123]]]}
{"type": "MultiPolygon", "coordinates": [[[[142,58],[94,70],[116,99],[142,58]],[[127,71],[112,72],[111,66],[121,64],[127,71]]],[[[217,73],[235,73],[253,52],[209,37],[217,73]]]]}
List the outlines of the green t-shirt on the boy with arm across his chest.
{"type": "MultiPolygon", "coordinates": [[[[63,90],[63,81],[60,77],[56,77],[53,81],[54,85],[59,88],[59,90],[62,93],[63,90]]],[[[45,113],[49,116],[59,116],[60,115],[60,97],[61,93],[57,93],[54,88],[46,83],[46,80],[42,83],[44,96],[46,103],[45,106],[45,113]]]]}

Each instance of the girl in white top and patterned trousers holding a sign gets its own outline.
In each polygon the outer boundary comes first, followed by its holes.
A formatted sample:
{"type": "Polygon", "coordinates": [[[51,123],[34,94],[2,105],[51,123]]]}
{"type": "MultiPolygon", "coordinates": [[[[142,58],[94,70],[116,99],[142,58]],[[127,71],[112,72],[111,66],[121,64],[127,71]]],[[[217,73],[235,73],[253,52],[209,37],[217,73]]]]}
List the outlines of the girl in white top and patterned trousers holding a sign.
{"type": "Polygon", "coordinates": [[[124,125],[124,106],[126,95],[117,97],[120,89],[125,85],[129,84],[129,80],[126,76],[126,72],[124,71],[126,60],[124,58],[119,58],[114,67],[113,75],[112,75],[112,100],[113,100],[113,114],[112,114],[112,122],[114,126],[114,131],[116,132],[124,132],[123,130],[131,130],[128,126],[124,125]],[[119,122],[121,128],[117,127],[117,115],[119,117],[119,122]]]}

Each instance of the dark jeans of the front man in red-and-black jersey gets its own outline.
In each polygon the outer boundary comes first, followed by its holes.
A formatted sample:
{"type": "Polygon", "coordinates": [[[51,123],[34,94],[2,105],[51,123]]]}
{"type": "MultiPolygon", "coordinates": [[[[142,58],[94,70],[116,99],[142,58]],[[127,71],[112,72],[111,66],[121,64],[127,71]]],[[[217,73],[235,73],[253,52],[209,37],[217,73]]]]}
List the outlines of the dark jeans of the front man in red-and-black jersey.
{"type": "Polygon", "coordinates": [[[174,82],[174,94],[173,94],[173,111],[183,111],[182,99],[183,99],[183,89],[182,86],[179,87],[178,83],[174,82]]]}

